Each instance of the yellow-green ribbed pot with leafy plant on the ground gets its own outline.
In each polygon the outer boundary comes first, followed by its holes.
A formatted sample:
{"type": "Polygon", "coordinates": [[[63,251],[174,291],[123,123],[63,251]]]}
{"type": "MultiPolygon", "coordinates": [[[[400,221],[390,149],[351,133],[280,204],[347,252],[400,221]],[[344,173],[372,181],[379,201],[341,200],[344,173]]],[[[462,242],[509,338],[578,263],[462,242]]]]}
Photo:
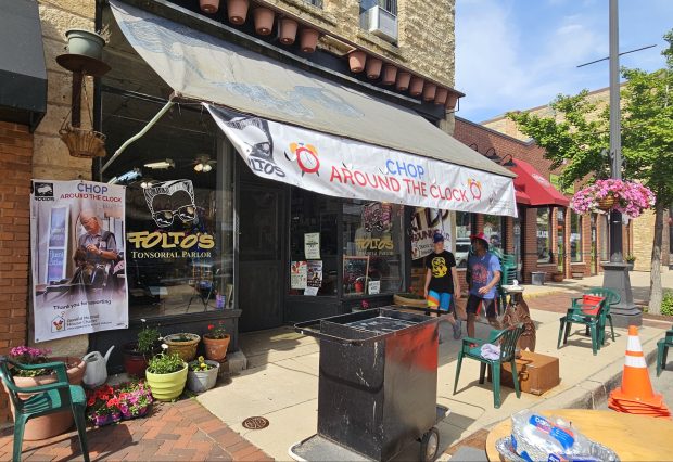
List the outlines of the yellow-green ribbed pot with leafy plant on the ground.
{"type": "Polygon", "coordinates": [[[174,400],[185,389],[187,362],[178,354],[160,352],[150,359],[145,376],[154,399],[174,400]]]}

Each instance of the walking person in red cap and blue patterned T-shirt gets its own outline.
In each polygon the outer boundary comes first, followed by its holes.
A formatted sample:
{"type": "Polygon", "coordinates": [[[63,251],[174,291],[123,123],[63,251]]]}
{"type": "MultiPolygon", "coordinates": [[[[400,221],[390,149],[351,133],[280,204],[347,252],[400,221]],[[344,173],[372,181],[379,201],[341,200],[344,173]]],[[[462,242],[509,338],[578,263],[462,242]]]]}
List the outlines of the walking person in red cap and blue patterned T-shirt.
{"type": "Polygon", "coordinates": [[[500,281],[500,261],[488,252],[488,241],[483,232],[471,235],[473,254],[468,258],[470,295],[468,296],[468,336],[474,336],[474,321],[479,307],[486,310],[488,323],[499,328],[495,312],[496,286],[500,281]]]}

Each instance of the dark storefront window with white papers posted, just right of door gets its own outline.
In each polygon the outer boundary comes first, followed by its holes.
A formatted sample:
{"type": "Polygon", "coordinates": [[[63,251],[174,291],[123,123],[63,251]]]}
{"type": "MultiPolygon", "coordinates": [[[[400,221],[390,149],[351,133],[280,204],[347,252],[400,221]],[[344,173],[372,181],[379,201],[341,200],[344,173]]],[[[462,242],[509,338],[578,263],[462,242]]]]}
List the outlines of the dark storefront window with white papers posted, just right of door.
{"type": "Polygon", "coordinates": [[[292,189],[290,295],[336,295],[341,201],[292,189]]]}

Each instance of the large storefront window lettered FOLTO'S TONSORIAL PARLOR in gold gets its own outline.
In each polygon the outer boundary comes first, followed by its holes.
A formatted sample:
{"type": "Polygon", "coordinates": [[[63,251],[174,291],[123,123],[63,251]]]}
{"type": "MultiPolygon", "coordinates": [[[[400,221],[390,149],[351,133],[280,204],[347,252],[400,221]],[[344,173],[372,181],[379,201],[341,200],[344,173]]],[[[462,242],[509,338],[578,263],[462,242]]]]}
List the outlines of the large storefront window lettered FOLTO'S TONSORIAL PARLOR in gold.
{"type": "MultiPolygon", "coordinates": [[[[155,111],[103,93],[114,152],[155,111]]],[[[131,319],[232,308],[233,150],[201,111],[176,111],[131,144],[103,180],[126,185],[126,274],[131,319]],[[200,167],[198,167],[200,165],[200,167]]]]}

